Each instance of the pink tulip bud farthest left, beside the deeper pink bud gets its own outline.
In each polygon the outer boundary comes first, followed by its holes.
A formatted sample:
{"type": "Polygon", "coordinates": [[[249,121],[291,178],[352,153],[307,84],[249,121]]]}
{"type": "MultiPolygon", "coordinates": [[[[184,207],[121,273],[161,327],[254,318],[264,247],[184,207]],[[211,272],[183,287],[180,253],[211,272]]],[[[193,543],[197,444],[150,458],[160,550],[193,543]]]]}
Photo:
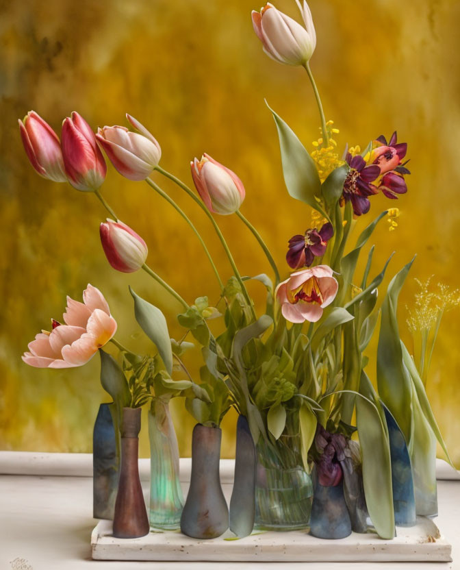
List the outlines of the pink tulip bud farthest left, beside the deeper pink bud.
{"type": "Polygon", "coordinates": [[[49,124],[35,111],[29,111],[18,123],[27,158],[38,174],[54,182],[67,182],[59,138],[49,124]]]}

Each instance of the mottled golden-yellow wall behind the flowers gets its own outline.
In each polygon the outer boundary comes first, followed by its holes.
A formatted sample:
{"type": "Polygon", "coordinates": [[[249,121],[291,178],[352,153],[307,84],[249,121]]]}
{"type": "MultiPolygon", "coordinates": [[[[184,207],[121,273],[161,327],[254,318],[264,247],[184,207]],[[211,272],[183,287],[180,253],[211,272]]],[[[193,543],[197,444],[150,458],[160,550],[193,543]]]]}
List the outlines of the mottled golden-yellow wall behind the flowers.
{"type": "MultiPolygon", "coordinates": [[[[257,0],[259,1],[259,0],[257,0]]],[[[107,397],[99,358],[63,371],[21,362],[27,342],[51,317],[60,318],[69,294],[88,282],[101,288],[118,320],[118,338],[149,350],[133,318],[128,284],[155,301],[181,334],[174,312],[149,277],[113,271],[99,243],[105,211],[89,194],[38,177],[29,166],[16,120],[29,109],[56,129],[73,110],[93,127],[140,119],[163,149],[162,166],[190,181],[188,163],[207,151],[236,171],[246,186],[244,214],[259,227],[283,273],[286,241],[308,227],[309,211],[288,199],[281,176],[270,105],[305,144],[318,134],[318,116],[305,72],[269,60],[253,34],[253,0],[27,0],[2,3],[0,448],[90,451],[94,417],[107,397]],[[8,8],[7,8],[8,6],[8,8]]],[[[400,226],[376,232],[375,269],[397,249],[393,272],[413,253],[412,277],[435,274],[459,286],[460,3],[455,0],[311,0],[318,47],[311,61],[327,118],[342,145],[366,145],[398,129],[409,143],[409,193],[398,203],[400,226]]],[[[294,15],[294,1],[277,6],[294,15]]],[[[157,177],[160,182],[161,178],[157,177]]],[[[163,184],[163,181],[161,180],[163,184]]],[[[229,266],[209,223],[177,188],[164,184],[220,260],[229,266]]],[[[102,188],[123,221],[149,243],[149,264],[189,301],[218,288],[199,243],[176,212],[146,184],[110,168],[102,188]]],[[[388,206],[372,199],[371,214],[388,206]]],[[[370,221],[370,215],[367,221],[370,221]]],[[[241,272],[270,268],[238,223],[221,219],[241,272]]],[[[362,220],[360,221],[362,223],[362,220]]],[[[415,287],[410,278],[400,303],[415,287]]],[[[257,294],[257,286],[251,291],[257,294]]],[[[442,432],[460,464],[460,312],[447,314],[433,359],[429,395],[442,432]]],[[[190,363],[196,371],[198,360],[190,363]]],[[[190,454],[193,420],[175,408],[181,454],[190,454]]],[[[225,420],[223,455],[234,452],[233,423],[225,420]]],[[[142,451],[148,443],[143,434],[142,451]]]]}

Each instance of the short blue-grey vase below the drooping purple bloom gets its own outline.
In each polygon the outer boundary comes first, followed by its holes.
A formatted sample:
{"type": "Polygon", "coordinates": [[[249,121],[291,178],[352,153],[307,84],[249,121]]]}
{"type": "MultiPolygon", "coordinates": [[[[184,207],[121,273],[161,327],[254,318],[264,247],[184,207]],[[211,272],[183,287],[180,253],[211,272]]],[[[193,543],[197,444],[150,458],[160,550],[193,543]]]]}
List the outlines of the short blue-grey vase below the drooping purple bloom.
{"type": "Polygon", "coordinates": [[[323,486],[314,473],[310,534],[316,538],[345,538],[351,534],[351,520],[344,497],[343,480],[323,486]]]}

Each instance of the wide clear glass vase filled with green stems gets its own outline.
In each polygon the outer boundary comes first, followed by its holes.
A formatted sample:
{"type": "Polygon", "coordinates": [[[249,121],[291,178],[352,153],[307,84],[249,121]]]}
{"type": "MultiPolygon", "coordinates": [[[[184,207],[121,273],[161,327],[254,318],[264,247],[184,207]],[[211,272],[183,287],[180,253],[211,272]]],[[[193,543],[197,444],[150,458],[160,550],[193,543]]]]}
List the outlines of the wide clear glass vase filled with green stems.
{"type": "Polygon", "coordinates": [[[273,444],[257,443],[255,528],[295,530],[308,525],[313,485],[301,459],[298,414],[290,414],[285,431],[273,444]]]}

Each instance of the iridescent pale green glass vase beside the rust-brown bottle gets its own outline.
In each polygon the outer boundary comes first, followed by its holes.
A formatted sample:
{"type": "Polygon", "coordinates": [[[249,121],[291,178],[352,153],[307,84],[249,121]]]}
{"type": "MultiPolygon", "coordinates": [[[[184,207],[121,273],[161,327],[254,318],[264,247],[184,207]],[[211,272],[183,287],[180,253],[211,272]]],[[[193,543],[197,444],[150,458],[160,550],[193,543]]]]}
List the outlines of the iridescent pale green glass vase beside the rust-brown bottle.
{"type": "Polygon", "coordinates": [[[168,402],[154,398],[149,411],[150,524],[180,528],[183,495],[179,482],[179,447],[168,402]]]}

